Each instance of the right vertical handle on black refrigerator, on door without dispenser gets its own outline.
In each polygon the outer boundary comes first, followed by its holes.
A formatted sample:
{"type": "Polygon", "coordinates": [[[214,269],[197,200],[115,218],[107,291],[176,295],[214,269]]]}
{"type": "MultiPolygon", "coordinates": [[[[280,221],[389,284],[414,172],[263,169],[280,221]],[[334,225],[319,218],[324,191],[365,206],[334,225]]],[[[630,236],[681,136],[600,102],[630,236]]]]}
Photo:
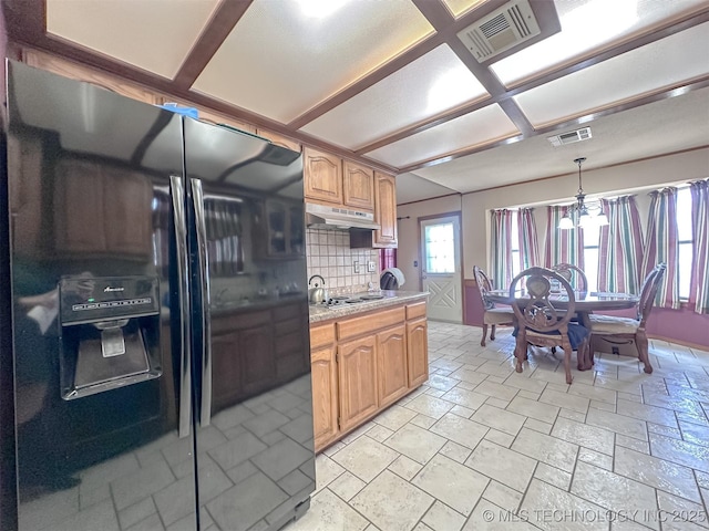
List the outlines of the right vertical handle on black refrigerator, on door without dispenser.
{"type": "Polygon", "coordinates": [[[202,279],[202,400],[199,425],[209,426],[212,420],[212,301],[209,295],[209,264],[207,263],[207,226],[204,212],[202,180],[192,179],[192,198],[195,207],[199,278],[202,279]]]}

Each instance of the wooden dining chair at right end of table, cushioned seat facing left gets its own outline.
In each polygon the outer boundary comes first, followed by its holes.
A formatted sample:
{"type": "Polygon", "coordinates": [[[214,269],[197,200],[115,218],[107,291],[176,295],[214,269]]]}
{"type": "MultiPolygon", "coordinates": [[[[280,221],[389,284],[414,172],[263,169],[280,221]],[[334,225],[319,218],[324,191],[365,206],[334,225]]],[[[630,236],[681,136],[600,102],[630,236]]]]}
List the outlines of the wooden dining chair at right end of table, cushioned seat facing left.
{"type": "Polygon", "coordinates": [[[640,290],[638,312],[635,319],[592,313],[588,315],[588,322],[586,323],[590,330],[592,337],[594,335],[604,336],[609,342],[617,344],[633,342],[638,351],[638,358],[643,362],[644,371],[647,374],[653,373],[653,365],[650,365],[650,358],[648,356],[645,326],[650,316],[655,295],[657,294],[660,282],[662,282],[666,269],[667,264],[658,263],[645,278],[643,289],[640,290]]]}

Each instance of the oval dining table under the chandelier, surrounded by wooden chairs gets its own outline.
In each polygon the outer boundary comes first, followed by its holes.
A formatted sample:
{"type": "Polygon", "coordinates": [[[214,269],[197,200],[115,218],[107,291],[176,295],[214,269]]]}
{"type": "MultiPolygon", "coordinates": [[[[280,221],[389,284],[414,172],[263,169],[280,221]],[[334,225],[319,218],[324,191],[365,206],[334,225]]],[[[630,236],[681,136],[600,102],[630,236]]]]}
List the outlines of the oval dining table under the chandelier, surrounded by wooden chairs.
{"type": "MultiPolygon", "coordinates": [[[[513,298],[510,294],[510,290],[492,290],[489,291],[486,298],[490,302],[495,304],[512,304],[513,298]]],[[[514,294],[514,299],[521,308],[526,305],[530,298],[522,290],[514,294]]],[[[627,310],[637,306],[640,302],[638,295],[629,293],[610,293],[610,292],[574,292],[575,312],[578,315],[579,322],[588,327],[589,320],[588,314],[594,312],[612,311],[612,310],[627,310]]],[[[565,310],[568,308],[568,296],[566,293],[554,293],[549,295],[549,303],[556,310],[565,310]]],[[[578,360],[579,371],[589,371],[594,367],[594,353],[588,350],[588,355],[580,355],[578,360]]]]}

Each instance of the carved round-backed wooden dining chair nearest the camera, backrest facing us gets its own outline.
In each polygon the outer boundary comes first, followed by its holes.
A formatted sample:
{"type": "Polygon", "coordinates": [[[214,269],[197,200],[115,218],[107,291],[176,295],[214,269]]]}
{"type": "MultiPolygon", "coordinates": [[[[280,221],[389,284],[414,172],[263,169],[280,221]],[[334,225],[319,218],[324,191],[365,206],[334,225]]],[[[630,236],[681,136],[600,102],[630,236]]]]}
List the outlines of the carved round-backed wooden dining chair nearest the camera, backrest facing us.
{"type": "MultiPolygon", "coordinates": [[[[558,295],[557,295],[558,296],[558,295]]],[[[568,281],[556,271],[545,268],[530,268],[517,274],[510,285],[512,310],[516,317],[515,371],[522,372],[522,363],[527,360],[527,346],[559,346],[564,351],[564,372],[566,383],[573,381],[571,369],[572,351],[579,356],[588,348],[588,329],[579,323],[572,323],[576,314],[574,289],[568,281]],[[524,280],[527,295],[517,298],[517,284],[524,280]],[[566,308],[554,308],[549,295],[552,283],[561,285],[561,294],[566,298],[566,308]]]]}

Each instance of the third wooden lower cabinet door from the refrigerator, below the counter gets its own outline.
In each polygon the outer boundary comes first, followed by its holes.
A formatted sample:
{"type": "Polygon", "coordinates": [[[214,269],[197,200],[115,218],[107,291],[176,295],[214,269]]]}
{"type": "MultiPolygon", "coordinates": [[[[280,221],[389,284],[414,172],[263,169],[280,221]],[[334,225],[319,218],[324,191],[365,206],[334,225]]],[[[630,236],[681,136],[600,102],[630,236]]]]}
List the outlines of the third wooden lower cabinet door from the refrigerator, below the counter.
{"type": "Polygon", "coordinates": [[[409,391],[405,334],[403,324],[377,334],[379,407],[392,404],[409,391]]]}

